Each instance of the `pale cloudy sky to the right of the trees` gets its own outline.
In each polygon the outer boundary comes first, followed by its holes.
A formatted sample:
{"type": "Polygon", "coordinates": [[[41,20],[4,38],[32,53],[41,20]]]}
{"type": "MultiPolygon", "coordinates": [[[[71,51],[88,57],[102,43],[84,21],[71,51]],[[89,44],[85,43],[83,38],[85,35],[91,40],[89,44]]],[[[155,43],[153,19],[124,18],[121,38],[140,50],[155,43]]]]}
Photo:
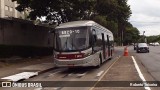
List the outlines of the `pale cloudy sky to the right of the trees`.
{"type": "Polygon", "coordinates": [[[160,0],[128,0],[132,10],[129,22],[142,35],[160,35],[160,0]]]}

